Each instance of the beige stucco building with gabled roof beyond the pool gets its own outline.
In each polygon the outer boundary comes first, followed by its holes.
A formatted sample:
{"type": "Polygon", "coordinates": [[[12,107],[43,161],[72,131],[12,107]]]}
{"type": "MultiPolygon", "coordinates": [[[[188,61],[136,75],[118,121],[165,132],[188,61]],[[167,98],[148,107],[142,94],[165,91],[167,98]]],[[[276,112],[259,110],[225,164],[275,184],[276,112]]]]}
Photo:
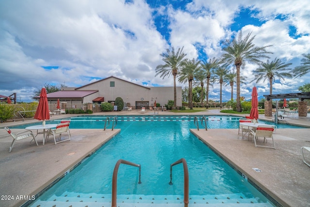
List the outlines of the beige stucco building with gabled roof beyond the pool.
{"type": "MultiPolygon", "coordinates": [[[[178,107],[182,106],[182,87],[176,88],[178,107]]],[[[87,103],[114,102],[116,97],[124,100],[124,106],[132,109],[165,106],[168,100],[173,100],[173,87],[146,87],[113,76],[98,80],[87,85],[72,88],[63,87],[61,91],[47,94],[50,110],[55,110],[57,99],[65,108],[83,108],[87,103]]]]}

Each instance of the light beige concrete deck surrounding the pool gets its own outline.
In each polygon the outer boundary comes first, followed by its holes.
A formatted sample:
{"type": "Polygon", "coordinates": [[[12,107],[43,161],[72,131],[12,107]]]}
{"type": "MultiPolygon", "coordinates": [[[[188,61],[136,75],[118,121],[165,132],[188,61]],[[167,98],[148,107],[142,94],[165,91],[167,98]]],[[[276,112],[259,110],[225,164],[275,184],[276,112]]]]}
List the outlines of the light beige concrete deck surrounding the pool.
{"type": "MultiPolygon", "coordinates": [[[[140,110],[100,112],[94,115],[150,115],[153,111],[140,113],[140,110]]],[[[159,115],[228,115],[218,110],[196,113],[173,113],[159,111],[159,115]]],[[[235,114],[232,114],[235,115],[235,114]]],[[[52,116],[51,119],[69,117],[71,114],[52,116]]],[[[244,116],[244,115],[242,115],[244,116]]],[[[271,120],[271,117],[260,119],[271,120]]],[[[283,121],[283,120],[282,120],[283,121]]],[[[285,122],[310,127],[310,117],[285,117],[285,122]]],[[[0,206],[19,207],[51,182],[75,166],[82,159],[92,154],[112,138],[120,129],[70,129],[71,141],[55,145],[49,140],[42,145],[42,135],[38,136],[39,146],[30,139],[17,141],[11,153],[11,136],[3,127],[17,124],[34,123],[7,122],[0,124],[0,192],[1,196],[14,196],[14,200],[0,200],[0,206]],[[18,198],[21,199],[16,199],[18,198]],[[27,197],[28,196],[28,197],[27,197]]],[[[116,126],[117,128],[117,126],[116,126]]],[[[13,129],[14,133],[24,129],[13,129]]],[[[310,147],[310,128],[277,129],[274,134],[276,150],[255,147],[248,139],[238,135],[238,129],[191,129],[217,154],[228,160],[235,169],[248,176],[248,180],[270,194],[282,206],[304,207],[310,203],[310,167],[303,163],[300,148],[310,147]],[[262,172],[256,172],[258,168],[262,172]]],[[[310,161],[310,153],[306,153],[310,161]]],[[[190,205],[193,205],[190,203],[190,205]]],[[[190,206],[189,205],[189,206],[190,206]]]]}

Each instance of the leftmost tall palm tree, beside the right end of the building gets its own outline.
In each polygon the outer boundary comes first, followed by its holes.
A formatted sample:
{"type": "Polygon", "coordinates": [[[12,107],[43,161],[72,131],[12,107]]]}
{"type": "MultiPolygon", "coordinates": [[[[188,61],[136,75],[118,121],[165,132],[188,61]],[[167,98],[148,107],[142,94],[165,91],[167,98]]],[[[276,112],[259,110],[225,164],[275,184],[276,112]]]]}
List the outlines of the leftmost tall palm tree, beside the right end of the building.
{"type": "MultiPolygon", "coordinates": [[[[183,47],[184,48],[184,47],[183,47]]],[[[178,48],[178,50],[175,52],[174,48],[167,49],[167,53],[162,53],[160,56],[162,56],[162,60],[165,62],[165,64],[157,65],[156,67],[156,75],[160,74],[160,78],[163,79],[172,74],[173,76],[173,92],[174,92],[174,103],[173,107],[176,108],[176,76],[178,75],[179,70],[181,69],[182,65],[184,64],[184,57],[186,54],[183,52],[183,48],[178,48]]]]}

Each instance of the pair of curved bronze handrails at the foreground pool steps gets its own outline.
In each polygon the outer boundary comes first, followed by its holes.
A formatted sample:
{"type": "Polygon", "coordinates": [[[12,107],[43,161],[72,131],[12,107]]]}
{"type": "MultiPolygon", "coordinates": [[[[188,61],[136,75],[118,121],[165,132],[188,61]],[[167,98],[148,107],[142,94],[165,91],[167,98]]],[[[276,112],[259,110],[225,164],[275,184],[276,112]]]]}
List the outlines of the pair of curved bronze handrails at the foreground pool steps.
{"type": "MultiPolygon", "coordinates": [[[[188,207],[189,199],[188,199],[188,168],[187,168],[187,163],[184,158],[181,158],[175,162],[173,162],[170,165],[170,182],[169,185],[172,184],[172,167],[174,165],[177,165],[179,163],[183,163],[183,170],[184,170],[184,207],[188,207]]],[[[134,167],[139,167],[139,182],[138,184],[141,184],[141,165],[135,164],[133,162],[126,161],[124,159],[119,159],[114,167],[113,171],[113,176],[112,176],[112,206],[111,207],[117,207],[117,173],[118,173],[118,168],[120,167],[121,164],[127,164],[131,165],[134,167]]]]}

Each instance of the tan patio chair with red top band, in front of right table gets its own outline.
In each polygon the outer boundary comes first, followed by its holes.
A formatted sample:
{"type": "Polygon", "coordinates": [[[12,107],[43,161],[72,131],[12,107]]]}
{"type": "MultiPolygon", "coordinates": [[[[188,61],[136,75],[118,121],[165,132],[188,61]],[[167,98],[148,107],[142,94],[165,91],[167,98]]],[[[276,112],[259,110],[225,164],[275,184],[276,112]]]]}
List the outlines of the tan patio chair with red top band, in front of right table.
{"type": "Polygon", "coordinates": [[[250,129],[250,133],[253,135],[253,140],[255,143],[255,147],[267,147],[267,148],[274,148],[276,149],[275,146],[275,142],[273,140],[273,131],[274,131],[275,127],[274,126],[264,126],[264,125],[259,125],[256,128],[256,131],[250,129]],[[271,138],[272,139],[272,145],[273,146],[267,146],[267,145],[257,145],[256,140],[258,140],[259,137],[263,137],[263,143],[266,140],[267,143],[267,138],[271,138]]]}

